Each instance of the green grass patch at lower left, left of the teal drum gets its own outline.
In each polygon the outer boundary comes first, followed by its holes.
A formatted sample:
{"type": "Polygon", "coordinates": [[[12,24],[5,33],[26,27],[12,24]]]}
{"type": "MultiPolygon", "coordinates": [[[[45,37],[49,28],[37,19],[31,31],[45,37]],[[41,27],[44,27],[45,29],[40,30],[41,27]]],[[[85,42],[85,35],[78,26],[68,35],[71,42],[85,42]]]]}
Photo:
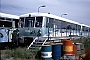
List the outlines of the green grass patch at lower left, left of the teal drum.
{"type": "Polygon", "coordinates": [[[26,47],[18,47],[16,49],[2,50],[1,54],[4,55],[2,60],[13,58],[14,60],[35,60],[37,52],[31,52],[26,47]]]}

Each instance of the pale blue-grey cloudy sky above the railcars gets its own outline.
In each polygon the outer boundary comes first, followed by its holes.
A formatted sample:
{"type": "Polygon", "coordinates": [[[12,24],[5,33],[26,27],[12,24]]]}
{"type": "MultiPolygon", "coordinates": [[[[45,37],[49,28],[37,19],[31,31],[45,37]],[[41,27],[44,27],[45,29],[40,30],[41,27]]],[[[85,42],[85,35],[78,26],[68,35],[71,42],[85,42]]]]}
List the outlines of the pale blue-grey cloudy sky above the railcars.
{"type": "Polygon", "coordinates": [[[90,26],[90,0],[0,0],[0,11],[14,15],[22,15],[30,12],[50,12],[64,18],[90,26]]]}

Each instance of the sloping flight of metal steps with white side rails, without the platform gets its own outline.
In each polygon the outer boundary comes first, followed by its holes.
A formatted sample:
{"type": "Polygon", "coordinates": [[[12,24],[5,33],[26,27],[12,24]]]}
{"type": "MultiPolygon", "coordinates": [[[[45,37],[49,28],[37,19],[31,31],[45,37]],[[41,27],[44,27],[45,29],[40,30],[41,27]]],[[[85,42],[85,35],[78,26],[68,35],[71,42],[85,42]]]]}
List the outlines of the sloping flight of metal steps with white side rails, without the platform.
{"type": "Polygon", "coordinates": [[[43,44],[47,42],[48,38],[44,37],[36,37],[33,42],[29,45],[28,49],[31,49],[32,51],[36,51],[41,48],[43,44]]]}

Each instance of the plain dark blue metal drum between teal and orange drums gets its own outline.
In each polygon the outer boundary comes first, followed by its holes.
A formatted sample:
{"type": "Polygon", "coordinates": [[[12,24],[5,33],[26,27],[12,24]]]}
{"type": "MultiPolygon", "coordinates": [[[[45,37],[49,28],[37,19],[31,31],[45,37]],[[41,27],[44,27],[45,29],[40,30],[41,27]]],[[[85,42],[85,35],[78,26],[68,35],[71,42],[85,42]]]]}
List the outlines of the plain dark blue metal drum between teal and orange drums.
{"type": "Polygon", "coordinates": [[[62,54],[61,50],[62,50],[61,44],[52,45],[52,58],[54,60],[60,60],[62,54]]]}

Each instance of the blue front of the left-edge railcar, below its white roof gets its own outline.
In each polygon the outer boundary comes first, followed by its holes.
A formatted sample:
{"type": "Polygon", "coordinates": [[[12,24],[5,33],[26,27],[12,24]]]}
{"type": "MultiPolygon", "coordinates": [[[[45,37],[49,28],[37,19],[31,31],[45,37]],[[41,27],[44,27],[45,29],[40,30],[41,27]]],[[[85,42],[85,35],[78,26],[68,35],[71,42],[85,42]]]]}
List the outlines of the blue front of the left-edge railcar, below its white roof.
{"type": "Polygon", "coordinates": [[[12,34],[15,28],[12,28],[15,21],[0,20],[0,45],[10,46],[13,44],[12,34]]]}

